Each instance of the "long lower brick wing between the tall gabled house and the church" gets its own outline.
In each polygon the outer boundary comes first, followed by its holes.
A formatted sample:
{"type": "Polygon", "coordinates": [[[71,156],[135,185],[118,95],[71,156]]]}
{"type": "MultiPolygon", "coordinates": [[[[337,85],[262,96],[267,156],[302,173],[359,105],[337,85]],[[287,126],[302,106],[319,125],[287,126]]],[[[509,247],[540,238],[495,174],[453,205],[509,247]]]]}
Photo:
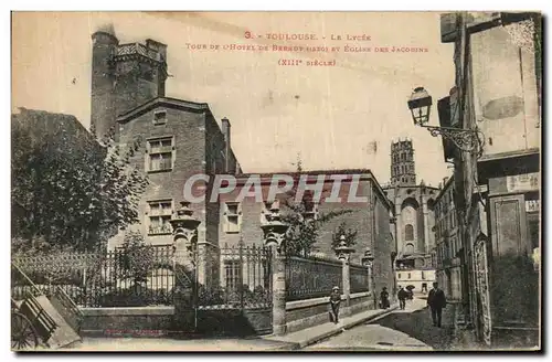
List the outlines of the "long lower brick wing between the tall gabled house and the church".
{"type": "MultiPolygon", "coordinates": [[[[265,203],[256,200],[255,196],[247,196],[236,202],[247,180],[259,181],[262,194],[267,195],[268,188],[272,184],[273,173],[264,174],[238,174],[237,187],[234,191],[221,194],[220,199],[220,227],[219,243],[221,245],[237,246],[238,243],[246,242],[252,245],[263,245],[262,225],[266,223],[265,216],[270,213],[272,202],[265,203]]],[[[390,232],[390,220],[392,219],[392,205],[384,196],[383,190],[370,170],[331,170],[331,171],[307,171],[293,174],[297,180],[305,177],[309,188],[319,187],[319,201],[306,204],[306,217],[317,220],[320,215],[331,212],[350,211],[349,213],[336,216],[328,222],[321,223],[318,231],[318,242],[314,245],[314,254],[323,258],[337,258],[332,248],[332,237],[337,234],[339,224],[346,223],[347,228],[357,232],[355,244],[352,246],[354,252],[350,256],[351,263],[361,264],[364,252],[370,248],[374,256],[373,275],[374,288],[381,290],[386,287],[388,290],[394,290],[395,280],[393,275],[392,256],[396,252],[395,242],[390,232]],[[333,181],[331,177],[342,179],[340,189],[341,202],[328,202],[332,193],[333,181]],[[365,198],[365,201],[351,202],[349,193],[352,175],[360,175],[355,196],[365,198]],[[322,180],[322,181],[320,181],[322,180]]],[[[290,210],[286,207],[288,195],[279,194],[276,202],[279,204],[282,214],[290,210]]]]}

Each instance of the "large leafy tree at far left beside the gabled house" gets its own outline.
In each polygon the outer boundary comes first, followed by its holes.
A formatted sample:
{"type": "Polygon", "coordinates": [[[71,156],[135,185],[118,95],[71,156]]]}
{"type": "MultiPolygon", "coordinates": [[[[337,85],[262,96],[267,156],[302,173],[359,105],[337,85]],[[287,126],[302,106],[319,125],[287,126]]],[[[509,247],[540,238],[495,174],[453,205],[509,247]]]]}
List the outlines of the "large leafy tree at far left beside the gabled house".
{"type": "Polygon", "coordinates": [[[102,139],[93,135],[72,116],[12,115],[14,252],[89,251],[138,221],[148,181],[130,158],[140,140],[119,146],[113,130],[102,139]]]}

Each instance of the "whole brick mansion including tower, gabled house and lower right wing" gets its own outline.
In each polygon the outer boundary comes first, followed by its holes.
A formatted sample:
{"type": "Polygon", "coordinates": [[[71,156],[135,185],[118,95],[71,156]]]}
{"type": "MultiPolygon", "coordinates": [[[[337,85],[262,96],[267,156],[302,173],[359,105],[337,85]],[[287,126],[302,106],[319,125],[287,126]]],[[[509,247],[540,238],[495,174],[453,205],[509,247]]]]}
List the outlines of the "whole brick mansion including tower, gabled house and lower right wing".
{"type": "MultiPolygon", "coordinates": [[[[250,175],[242,172],[232,151],[230,121],[222,119],[219,126],[208,104],[164,96],[167,45],[153,40],[147,40],[145,44],[119,44],[113,28],[95,32],[92,39],[92,126],[100,135],[114,129],[120,146],[130,145],[137,138],[142,141],[141,150],[130,161],[148,174],[150,183],[139,202],[140,223],[130,228],[140,231],[147,243],[172,245],[170,220],[183,201],[187,180],[194,174],[236,174],[240,189],[250,175]]],[[[331,234],[338,223],[346,221],[349,227],[359,232],[353,263],[360,264],[364,251],[371,247],[375,256],[375,286],[390,288],[394,285],[391,254],[395,252],[390,232],[391,204],[369,170],[308,173],[316,177],[340,172],[361,174],[359,193],[368,196],[369,202],[322,201],[316,205],[315,217],[317,212],[332,209],[354,210],[325,225],[319,253],[335,256],[331,234]]],[[[269,174],[261,177],[266,181],[269,174]]],[[[208,182],[203,190],[209,191],[211,187],[212,183],[208,182]]],[[[232,198],[235,193],[222,195],[215,202],[208,198],[190,205],[201,221],[199,249],[202,255],[214,256],[211,259],[216,259],[217,247],[224,244],[232,246],[243,241],[246,245],[263,245],[261,223],[266,205],[254,199],[235,203],[232,198]]],[[[123,236],[119,233],[110,239],[109,247],[120,245],[123,236]]],[[[200,281],[215,283],[219,274],[223,278],[227,275],[224,266],[219,269],[217,265],[208,263],[199,270],[200,281]]]]}

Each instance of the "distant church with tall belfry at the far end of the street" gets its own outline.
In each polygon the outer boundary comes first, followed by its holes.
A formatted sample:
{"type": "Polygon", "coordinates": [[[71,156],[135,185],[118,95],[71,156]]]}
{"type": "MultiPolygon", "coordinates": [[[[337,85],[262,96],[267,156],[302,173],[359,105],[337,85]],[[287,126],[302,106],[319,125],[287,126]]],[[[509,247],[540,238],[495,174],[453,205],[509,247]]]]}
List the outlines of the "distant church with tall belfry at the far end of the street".
{"type": "MultiPolygon", "coordinates": [[[[422,275],[422,270],[424,276],[434,275],[432,251],[435,234],[432,230],[435,226],[435,198],[439,190],[425,185],[424,181],[416,184],[412,140],[399,140],[391,145],[391,185],[384,187],[384,192],[394,209],[397,280],[399,274],[405,275],[406,270],[411,275],[422,275]]],[[[420,288],[416,287],[414,292],[422,292],[422,284],[431,286],[435,281],[429,278],[424,280],[418,283],[420,288]]]]}

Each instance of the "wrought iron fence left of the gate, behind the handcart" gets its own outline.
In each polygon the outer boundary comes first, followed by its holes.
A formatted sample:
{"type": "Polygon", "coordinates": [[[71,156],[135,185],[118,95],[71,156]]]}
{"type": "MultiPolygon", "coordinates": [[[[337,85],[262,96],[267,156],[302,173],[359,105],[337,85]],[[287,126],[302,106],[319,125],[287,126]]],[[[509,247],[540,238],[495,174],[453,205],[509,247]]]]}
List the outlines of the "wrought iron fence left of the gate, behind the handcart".
{"type": "Polygon", "coordinates": [[[81,307],[172,305],[172,246],[145,246],[102,254],[60,253],[14,257],[29,277],[12,273],[12,298],[60,287],[81,307]]]}

